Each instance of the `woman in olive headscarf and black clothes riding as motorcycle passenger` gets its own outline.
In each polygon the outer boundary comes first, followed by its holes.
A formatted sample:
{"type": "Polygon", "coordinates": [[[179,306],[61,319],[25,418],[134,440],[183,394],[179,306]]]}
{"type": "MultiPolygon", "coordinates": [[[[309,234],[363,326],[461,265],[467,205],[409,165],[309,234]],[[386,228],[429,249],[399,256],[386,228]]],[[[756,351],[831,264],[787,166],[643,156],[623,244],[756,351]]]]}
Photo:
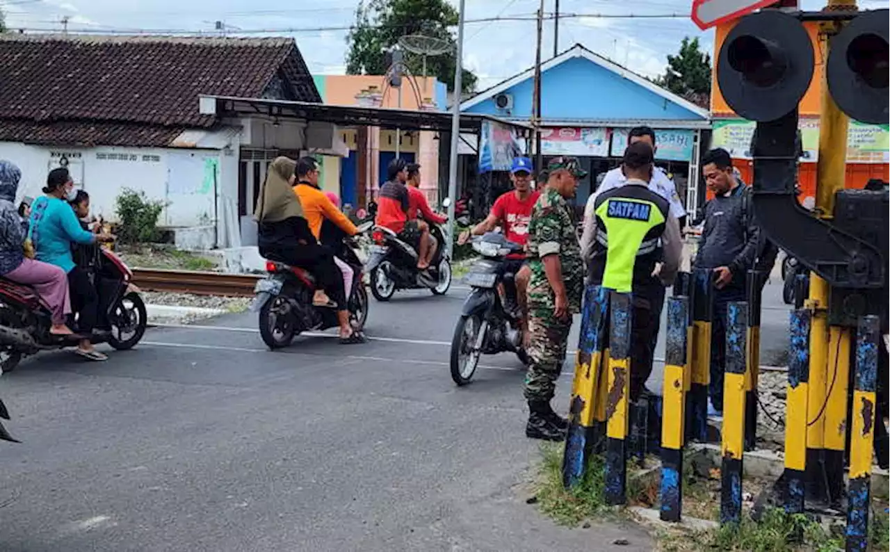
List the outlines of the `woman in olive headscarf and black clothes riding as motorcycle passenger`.
{"type": "Polygon", "coordinates": [[[260,255],[311,271],[336,303],[340,343],[362,343],[361,332],[349,322],[344,281],[334,255],[312,235],[300,199],[293,191],[295,168],[295,161],[286,157],[276,158],[269,166],[254,212],[260,255]]]}

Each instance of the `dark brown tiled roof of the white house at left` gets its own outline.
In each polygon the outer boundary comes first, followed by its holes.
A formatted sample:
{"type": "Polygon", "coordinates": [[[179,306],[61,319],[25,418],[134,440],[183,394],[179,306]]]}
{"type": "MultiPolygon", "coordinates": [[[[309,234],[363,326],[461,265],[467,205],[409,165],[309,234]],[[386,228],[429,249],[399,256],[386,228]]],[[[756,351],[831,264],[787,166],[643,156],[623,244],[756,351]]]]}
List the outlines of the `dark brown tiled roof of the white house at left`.
{"type": "Polygon", "coordinates": [[[130,132],[133,124],[158,138],[174,131],[162,127],[214,126],[214,118],[199,113],[201,94],[321,101],[289,38],[6,33],[0,68],[0,134],[39,123],[50,142],[130,132]],[[68,124],[51,124],[57,122],[68,124]]]}

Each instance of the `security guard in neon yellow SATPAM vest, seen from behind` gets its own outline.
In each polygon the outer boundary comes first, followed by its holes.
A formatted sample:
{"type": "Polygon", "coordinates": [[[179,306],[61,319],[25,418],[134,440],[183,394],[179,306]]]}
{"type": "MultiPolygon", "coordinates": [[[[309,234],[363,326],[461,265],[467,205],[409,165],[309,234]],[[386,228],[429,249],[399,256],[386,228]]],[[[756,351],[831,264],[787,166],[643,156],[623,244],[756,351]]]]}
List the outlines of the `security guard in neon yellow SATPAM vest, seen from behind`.
{"type": "Polygon", "coordinates": [[[624,152],[627,183],[604,191],[584,221],[581,249],[587,283],[619,293],[633,292],[630,399],[643,392],[652,366],[653,333],[658,331],[654,303],[680,267],[680,225],[667,199],[649,189],[654,152],[635,142],[624,152]]]}

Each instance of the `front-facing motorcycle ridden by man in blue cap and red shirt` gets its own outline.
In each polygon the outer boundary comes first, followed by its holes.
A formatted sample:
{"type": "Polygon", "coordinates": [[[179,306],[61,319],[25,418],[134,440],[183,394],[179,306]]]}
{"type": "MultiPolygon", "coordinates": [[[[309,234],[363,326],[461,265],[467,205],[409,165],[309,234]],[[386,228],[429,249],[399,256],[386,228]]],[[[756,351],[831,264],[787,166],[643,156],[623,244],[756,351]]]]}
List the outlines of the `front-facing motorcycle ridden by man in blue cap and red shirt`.
{"type": "Polygon", "coordinates": [[[516,353],[523,364],[529,361],[522,348],[518,305],[507,307],[498,293],[502,281],[505,286],[515,285],[514,274],[503,278],[499,274],[506,256],[522,251],[522,246],[498,232],[488,232],[472,244],[482,258],[465,277],[473,291],[466,297],[451,338],[451,379],[458,386],[470,383],[482,354],[516,353]]]}

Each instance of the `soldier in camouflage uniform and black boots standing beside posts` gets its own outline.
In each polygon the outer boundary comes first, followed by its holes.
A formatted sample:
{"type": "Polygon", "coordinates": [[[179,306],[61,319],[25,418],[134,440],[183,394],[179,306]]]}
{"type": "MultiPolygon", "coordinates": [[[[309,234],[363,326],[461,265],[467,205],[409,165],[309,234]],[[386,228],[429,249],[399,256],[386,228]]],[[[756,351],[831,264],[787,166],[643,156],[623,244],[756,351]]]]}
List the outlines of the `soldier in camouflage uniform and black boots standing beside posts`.
{"type": "Polygon", "coordinates": [[[528,258],[529,373],[525,398],[532,439],[561,441],[568,423],[550,406],[556,379],[562,371],[572,314],[581,310],[584,263],[577,225],[568,199],[587,175],[577,158],[554,158],[547,166],[546,188],[531,210],[528,258]]]}

